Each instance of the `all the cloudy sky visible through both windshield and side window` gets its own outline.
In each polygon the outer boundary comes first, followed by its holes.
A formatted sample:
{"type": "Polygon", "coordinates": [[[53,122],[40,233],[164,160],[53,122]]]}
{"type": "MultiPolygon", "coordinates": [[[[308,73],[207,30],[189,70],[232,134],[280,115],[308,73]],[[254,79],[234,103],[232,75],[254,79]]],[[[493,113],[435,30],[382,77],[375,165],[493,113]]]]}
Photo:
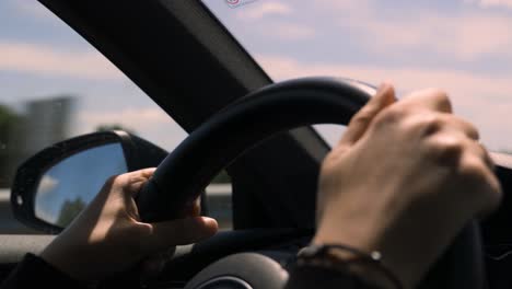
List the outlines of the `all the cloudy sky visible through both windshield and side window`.
{"type": "MultiPolygon", "coordinates": [[[[512,0],[203,2],[275,81],[306,76],[391,81],[402,96],[441,88],[490,149],[512,149],[512,0]]],[[[0,1],[0,103],[23,107],[62,94],[77,99],[72,135],[116,123],[167,150],[185,137],[38,2],[0,1]]],[[[333,126],[322,131],[333,142],[341,134],[333,126]]]]}

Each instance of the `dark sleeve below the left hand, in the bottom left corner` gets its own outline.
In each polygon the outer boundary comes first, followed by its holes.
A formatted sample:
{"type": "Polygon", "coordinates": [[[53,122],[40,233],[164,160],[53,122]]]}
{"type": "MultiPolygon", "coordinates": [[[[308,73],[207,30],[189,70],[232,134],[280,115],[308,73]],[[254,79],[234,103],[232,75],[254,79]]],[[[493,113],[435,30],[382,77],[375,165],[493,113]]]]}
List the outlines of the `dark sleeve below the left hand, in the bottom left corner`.
{"type": "Polygon", "coordinates": [[[11,288],[88,288],[34,254],[26,254],[1,285],[11,288]]]}

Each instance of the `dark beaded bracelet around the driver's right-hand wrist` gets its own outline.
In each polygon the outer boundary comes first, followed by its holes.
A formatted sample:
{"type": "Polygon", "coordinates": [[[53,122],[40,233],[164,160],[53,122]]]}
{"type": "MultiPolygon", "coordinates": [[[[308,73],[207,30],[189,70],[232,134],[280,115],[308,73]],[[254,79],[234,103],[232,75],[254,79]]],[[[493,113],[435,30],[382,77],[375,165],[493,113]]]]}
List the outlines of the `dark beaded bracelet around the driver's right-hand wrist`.
{"type": "Polygon", "coordinates": [[[398,277],[396,277],[388,268],[382,264],[382,254],[377,251],[373,251],[370,254],[362,252],[358,248],[342,245],[342,244],[322,244],[322,245],[310,245],[303,247],[298,253],[298,265],[314,265],[324,266],[329,268],[340,268],[347,271],[348,266],[354,263],[364,263],[377,268],[384,276],[393,284],[397,289],[403,289],[398,277]],[[354,258],[344,259],[335,257],[330,252],[333,250],[340,250],[354,255],[354,258]]]}

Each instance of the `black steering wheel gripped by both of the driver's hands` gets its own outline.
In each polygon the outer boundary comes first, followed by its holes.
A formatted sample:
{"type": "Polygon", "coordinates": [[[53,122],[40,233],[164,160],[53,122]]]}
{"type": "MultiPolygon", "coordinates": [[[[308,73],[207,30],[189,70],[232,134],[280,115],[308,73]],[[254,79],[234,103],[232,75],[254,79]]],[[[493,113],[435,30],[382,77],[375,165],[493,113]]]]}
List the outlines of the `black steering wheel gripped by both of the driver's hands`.
{"type": "MultiPolygon", "coordinates": [[[[179,218],[183,208],[199,197],[211,180],[244,151],[277,132],[292,128],[313,124],[346,125],[374,92],[370,85],[353,80],[306,78],[271,84],[236,101],[191,132],[159,165],[136,200],[142,220],[179,218]]],[[[472,221],[433,266],[421,287],[484,288],[481,251],[478,226],[472,221]]],[[[231,270],[235,273],[230,271],[230,276],[247,276],[247,273],[236,274],[236,267],[240,267],[236,264],[241,258],[234,258],[232,264],[221,259],[218,263],[223,265],[214,263],[210,267],[226,268],[231,264],[231,270]]],[[[266,266],[263,262],[261,266],[269,268],[276,264],[266,266]]],[[[207,268],[206,271],[208,274],[198,274],[193,281],[197,286],[189,288],[216,288],[210,285],[222,276],[222,269],[207,268]],[[212,275],[211,271],[217,274],[212,275]]],[[[257,276],[257,279],[265,278],[257,276]]],[[[246,279],[242,281],[248,284],[246,279]]],[[[282,281],[286,275],[268,279],[282,281]]],[[[256,285],[248,285],[258,289],[256,285]]]]}

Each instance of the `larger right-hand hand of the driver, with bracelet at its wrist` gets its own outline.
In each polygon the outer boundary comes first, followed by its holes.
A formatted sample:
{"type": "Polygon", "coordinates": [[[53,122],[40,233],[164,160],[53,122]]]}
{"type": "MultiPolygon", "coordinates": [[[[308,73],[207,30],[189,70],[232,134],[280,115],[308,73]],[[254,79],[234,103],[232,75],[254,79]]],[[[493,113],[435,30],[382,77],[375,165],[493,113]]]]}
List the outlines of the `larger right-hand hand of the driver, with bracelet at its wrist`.
{"type": "Polygon", "coordinates": [[[383,84],[324,160],[314,243],[379,251],[412,288],[464,224],[500,199],[478,131],[452,114],[444,92],[397,102],[383,84]]]}

